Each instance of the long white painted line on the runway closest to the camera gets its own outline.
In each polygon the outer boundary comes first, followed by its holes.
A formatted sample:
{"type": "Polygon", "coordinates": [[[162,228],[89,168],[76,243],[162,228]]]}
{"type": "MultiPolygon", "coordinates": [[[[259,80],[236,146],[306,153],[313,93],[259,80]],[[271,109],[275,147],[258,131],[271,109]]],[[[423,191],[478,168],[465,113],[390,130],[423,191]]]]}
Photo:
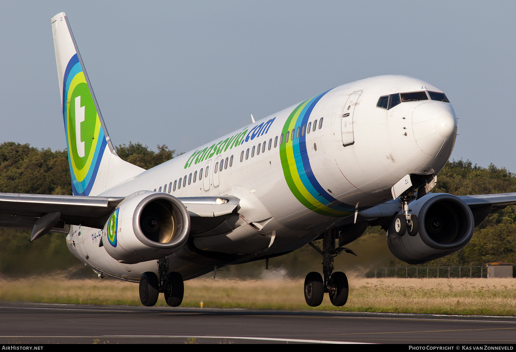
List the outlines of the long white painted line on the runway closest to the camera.
{"type": "Polygon", "coordinates": [[[0,338],[157,338],[157,339],[235,339],[235,340],[257,340],[257,341],[284,341],[303,343],[325,343],[325,344],[369,344],[367,342],[350,341],[327,341],[327,340],[305,340],[305,339],[279,339],[279,338],[251,338],[241,336],[186,336],[186,335],[95,335],[95,336],[0,336],[0,338]]]}

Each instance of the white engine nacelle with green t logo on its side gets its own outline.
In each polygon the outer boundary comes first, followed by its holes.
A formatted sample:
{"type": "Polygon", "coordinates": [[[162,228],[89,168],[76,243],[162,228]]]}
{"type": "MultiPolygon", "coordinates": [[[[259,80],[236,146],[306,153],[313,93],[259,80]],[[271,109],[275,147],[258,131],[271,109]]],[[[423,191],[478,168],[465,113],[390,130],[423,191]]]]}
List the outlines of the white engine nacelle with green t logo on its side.
{"type": "Polygon", "coordinates": [[[122,202],[102,231],[102,244],[117,261],[136,264],[179,250],[190,232],[190,215],[177,198],[146,192],[122,202]]]}

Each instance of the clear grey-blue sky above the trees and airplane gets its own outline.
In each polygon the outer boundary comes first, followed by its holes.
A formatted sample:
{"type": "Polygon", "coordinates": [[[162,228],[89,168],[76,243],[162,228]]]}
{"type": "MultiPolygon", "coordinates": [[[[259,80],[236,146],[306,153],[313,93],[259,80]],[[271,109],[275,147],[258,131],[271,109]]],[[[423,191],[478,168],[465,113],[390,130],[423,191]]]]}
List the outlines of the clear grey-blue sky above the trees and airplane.
{"type": "Polygon", "coordinates": [[[516,2],[7,2],[0,142],[65,149],[50,19],[64,11],[111,140],[186,152],[357,79],[442,89],[451,158],[516,172],[516,2]]]}

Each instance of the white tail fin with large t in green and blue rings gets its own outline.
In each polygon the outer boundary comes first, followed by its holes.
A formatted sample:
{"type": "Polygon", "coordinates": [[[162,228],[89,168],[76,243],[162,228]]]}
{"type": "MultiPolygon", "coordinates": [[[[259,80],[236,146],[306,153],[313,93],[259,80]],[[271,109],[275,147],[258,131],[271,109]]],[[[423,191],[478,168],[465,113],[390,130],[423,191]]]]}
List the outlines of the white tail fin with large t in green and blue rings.
{"type": "Polygon", "coordinates": [[[52,32],[73,194],[99,195],[144,169],[117,155],[65,12],[52,18],[52,32]]]}

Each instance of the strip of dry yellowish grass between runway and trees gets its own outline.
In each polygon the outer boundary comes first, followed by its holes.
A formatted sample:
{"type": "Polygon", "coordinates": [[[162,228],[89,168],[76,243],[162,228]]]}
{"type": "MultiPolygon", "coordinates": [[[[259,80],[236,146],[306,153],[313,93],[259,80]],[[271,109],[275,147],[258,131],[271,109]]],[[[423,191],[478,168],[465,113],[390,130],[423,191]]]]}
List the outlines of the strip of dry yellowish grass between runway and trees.
{"type": "MultiPolygon", "coordinates": [[[[182,307],[325,310],[464,315],[516,315],[516,279],[349,278],[344,307],[328,295],[319,307],[304,301],[301,279],[185,281],[182,307]]],[[[141,305],[138,284],[112,279],[65,279],[58,275],[0,278],[1,301],[91,305],[141,305]]],[[[158,306],[166,306],[160,295],[158,306]]]]}

